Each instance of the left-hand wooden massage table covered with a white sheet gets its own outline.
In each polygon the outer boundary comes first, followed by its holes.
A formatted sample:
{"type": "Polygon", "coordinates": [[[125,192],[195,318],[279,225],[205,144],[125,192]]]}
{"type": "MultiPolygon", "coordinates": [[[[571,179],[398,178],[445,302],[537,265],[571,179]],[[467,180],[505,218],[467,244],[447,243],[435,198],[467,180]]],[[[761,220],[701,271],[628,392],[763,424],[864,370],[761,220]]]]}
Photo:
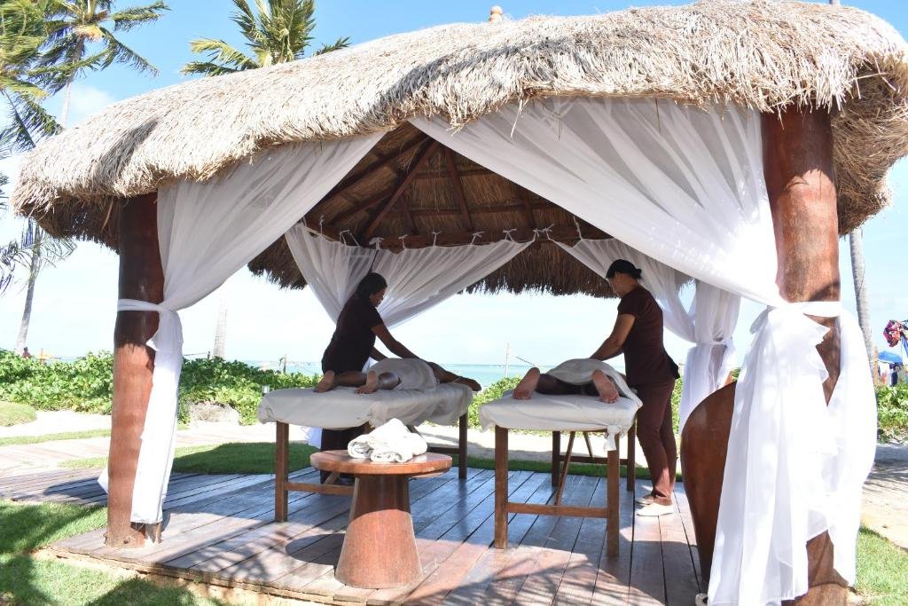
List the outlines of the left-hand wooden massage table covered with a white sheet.
{"type": "MultiPolygon", "coordinates": [[[[467,477],[467,411],[473,392],[460,383],[441,383],[431,389],[379,390],[356,393],[352,387],[337,387],[316,393],[307,389],[282,389],[262,395],[259,421],[276,423],[274,449],[274,520],[287,520],[288,492],[321,492],[351,495],[351,486],[333,483],[290,482],[290,425],[345,429],[369,424],[378,427],[400,419],[414,429],[423,422],[459,425],[456,447],[430,446],[429,451],[457,454],[459,477],[467,477]]],[[[414,429],[415,431],[415,429],[414,429]]]]}

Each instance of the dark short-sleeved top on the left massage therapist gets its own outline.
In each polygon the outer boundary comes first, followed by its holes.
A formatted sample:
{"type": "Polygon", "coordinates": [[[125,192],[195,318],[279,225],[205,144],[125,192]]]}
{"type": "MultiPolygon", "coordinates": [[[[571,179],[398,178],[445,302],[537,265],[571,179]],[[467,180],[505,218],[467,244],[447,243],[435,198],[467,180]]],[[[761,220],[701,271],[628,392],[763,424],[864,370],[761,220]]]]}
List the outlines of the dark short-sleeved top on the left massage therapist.
{"type": "Polygon", "coordinates": [[[351,296],[338,316],[331,343],[321,356],[321,372],[361,371],[375,345],[372,329],[381,323],[378,310],[368,298],[351,296]]]}

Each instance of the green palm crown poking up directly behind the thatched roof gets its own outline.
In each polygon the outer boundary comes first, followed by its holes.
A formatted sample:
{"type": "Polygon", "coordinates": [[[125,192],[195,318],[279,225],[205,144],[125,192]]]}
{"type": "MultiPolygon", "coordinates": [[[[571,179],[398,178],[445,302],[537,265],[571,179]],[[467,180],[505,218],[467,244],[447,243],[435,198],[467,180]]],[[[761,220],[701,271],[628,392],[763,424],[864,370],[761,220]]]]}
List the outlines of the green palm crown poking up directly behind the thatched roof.
{"type": "MultiPolygon", "coordinates": [[[[249,42],[247,55],[223,40],[200,38],[189,43],[193,53],[207,54],[208,61],[183,65],[183,74],[223,75],[257,67],[267,67],[301,59],[312,42],[315,28],[314,0],[255,0],[257,14],[249,0],[233,0],[233,22],[249,42]]],[[[313,55],[321,55],[350,45],[350,38],[338,38],[322,45],[313,55]]]]}

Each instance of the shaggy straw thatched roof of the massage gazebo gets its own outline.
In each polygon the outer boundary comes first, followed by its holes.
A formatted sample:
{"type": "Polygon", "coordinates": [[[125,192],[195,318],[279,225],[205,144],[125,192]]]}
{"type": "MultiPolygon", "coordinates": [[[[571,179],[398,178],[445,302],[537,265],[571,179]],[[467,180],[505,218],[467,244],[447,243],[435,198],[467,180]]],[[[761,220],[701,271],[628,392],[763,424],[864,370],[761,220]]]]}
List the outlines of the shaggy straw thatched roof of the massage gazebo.
{"type": "MultiPolygon", "coordinates": [[[[892,26],[846,6],[709,0],[607,15],[445,25],[156,90],[114,104],[40,144],[23,166],[14,204],[20,212],[40,214],[51,233],[115,245],[111,202],[116,198],[153,192],[176,177],[205,179],[271,145],[393,131],[380,146],[399,156],[316,209],[316,217],[339,219],[339,231],[350,225],[361,229],[374,218],[363,213],[374,208],[351,211],[370,197],[380,198],[386,191],[381,188],[392,187],[406,163],[426,151],[405,124],[410,116],[441,114],[458,125],[502,104],[556,94],[650,96],[763,112],[786,104],[831,111],[843,233],[887,204],[885,174],[908,154],[908,46],[892,26]],[[416,147],[403,149],[407,143],[416,147]]],[[[419,170],[447,172],[448,157],[437,152],[419,170]]],[[[370,154],[352,174],[382,159],[388,160],[370,154]]],[[[411,179],[409,186],[433,195],[444,189],[448,204],[450,196],[459,195],[452,188],[460,182],[476,204],[486,204],[481,194],[489,193],[488,204],[498,201],[498,206],[507,205],[509,187],[520,196],[510,202],[537,207],[530,214],[494,214],[489,228],[528,228],[533,222],[545,227],[549,216],[559,228],[573,226],[569,215],[558,215],[556,207],[497,175],[464,158],[455,157],[453,164],[459,178],[433,184],[429,175],[411,179]]],[[[419,204],[418,197],[408,199],[419,204]]],[[[454,229],[456,215],[429,220],[420,210],[429,208],[411,207],[410,219],[388,214],[383,221],[391,223],[372,231],[426,235],[419,230],[444,222],[454,229]]],[[[482,224],[479,217],[474,222],[482,224]]],[[[459,231],[468,223],[464,218],[459,231]]],[[[252,264],[294,283],[268,261],[277,263],[281,245],[275,243],[252,264]]],[[[547,250],[554,248],[548,244],[547,250]]],[[[512,277],[510,287],[532,282],[530,275],[512,277]]],[[[568,290],[582,290],[577,284],[568,290]]]]}

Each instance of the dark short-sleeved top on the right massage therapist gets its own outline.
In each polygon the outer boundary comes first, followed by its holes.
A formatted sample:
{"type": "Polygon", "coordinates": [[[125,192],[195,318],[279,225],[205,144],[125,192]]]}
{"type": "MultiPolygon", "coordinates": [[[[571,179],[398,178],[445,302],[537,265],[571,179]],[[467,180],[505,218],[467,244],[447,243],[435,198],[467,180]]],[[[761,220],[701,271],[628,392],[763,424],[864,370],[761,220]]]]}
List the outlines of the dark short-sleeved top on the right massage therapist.
{"type": "Polygon", "coordinates": [[[618,315],[634,316],[634,325],[624,343],[627,384],[646,385],[670,382],[678,377],[677,364],[662,342],[662,309],[642,286],[621,297],[618,315]]]}

